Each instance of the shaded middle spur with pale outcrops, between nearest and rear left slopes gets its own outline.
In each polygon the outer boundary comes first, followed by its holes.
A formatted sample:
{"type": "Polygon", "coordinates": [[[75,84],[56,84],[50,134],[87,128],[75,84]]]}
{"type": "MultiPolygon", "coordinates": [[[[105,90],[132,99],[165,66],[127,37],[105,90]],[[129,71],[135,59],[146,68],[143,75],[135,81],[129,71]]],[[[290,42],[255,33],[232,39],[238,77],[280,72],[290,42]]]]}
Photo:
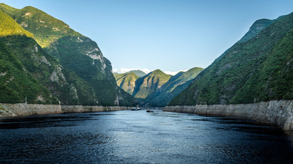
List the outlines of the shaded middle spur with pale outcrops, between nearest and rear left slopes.
{"type": "Polygon", "coordinates": [[[56,96],[62,105],[97,105],[92,87],[66,70],[32,38],[6,36],[0,39],[32,76],[56,96]],[[74,77],[74,78],[73,78],[74,77]],[[71,81],[68,81],[72,79],[71,81]],[[74,79],[74,80],[73,80],[74,79]]]}

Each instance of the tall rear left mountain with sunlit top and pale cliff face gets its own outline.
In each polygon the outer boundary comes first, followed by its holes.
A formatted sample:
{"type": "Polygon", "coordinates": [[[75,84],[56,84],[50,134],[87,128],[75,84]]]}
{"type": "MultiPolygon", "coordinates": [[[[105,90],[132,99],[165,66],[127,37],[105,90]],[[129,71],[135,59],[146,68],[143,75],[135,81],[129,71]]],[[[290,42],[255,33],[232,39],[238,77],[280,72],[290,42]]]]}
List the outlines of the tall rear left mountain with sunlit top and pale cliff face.
{"type": "MultiPolygon", "coordinates": [[[[102,55],[90,38],[74,31],[61,20],[27,6],[21,10],[0,3],[0,10],[9,14],[23,29],[34,34],[34,40],[46,53],[58,60],[62,68],[91,87],[97,101],[92,105],[132,105],[134,98],[116,85],[110,61],[102,55]]],[[[57,68],[56,68],[57,69],[57,68]]],[[[77,82],[77,81],[75,81],[77,82]]],[[[76,86],[75,86],[76,87],[76,86]]],[[[86,97],[85,97],[86,98],[86,97]]]]}

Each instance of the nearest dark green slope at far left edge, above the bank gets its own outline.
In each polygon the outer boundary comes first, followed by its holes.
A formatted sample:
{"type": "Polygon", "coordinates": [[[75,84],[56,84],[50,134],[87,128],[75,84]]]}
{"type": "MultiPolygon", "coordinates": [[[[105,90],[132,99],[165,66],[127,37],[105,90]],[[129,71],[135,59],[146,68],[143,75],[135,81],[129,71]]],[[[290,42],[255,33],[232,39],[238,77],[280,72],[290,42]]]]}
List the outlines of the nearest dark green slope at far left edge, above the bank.
{"type": "Polygon", "coordinates": [[[58,104],[58,99],[28,72],[0,41],[0,102],[58,104]]]}

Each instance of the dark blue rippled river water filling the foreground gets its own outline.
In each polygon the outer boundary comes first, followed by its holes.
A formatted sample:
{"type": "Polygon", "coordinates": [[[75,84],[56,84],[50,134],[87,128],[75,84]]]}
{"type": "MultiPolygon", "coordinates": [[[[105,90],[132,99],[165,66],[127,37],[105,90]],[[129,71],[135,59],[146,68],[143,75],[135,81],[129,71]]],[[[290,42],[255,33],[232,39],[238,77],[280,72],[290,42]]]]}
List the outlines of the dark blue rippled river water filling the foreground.
{"type": "Polygon", "coordinates": [[[0,163],[292,163],[293,134],[154,110],[0,119],[0,163]]]}

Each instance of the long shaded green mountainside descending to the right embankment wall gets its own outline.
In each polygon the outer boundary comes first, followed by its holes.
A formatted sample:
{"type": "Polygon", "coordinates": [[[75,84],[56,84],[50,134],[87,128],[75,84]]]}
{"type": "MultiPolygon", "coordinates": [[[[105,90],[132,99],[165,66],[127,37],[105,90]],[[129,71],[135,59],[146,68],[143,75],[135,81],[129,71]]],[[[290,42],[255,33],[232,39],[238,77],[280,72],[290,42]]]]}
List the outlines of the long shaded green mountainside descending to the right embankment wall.
{"type": "MultiPolygon", "coordinates": [[[[275,46],[280,46],[278,42],[281,42],[287,35],[291,35],[290,33],[292,33],[293,28],[292,22],[293,13],[283,16],[274,23],[271,23],[250,40],[234,44],[223,55],[216,59],[213,64],[198,74],[198,77],[192,81],[191,85],[176,96],[169,105],[241,104],[259,102],[262,100],[274,100],[274,98],[271,99],[270,96],[268,96],[270,93],[269,90],[266,89],[266,92],[259,90],[254,92],[254,90],[249,89],[252,85],[248,85],[246,82],[249,82],[250,78],[257,79],[255,76],[261,71],[263,63],[267,62],[266,59],[270,57],[268,56],[270,51],[275,49],[275,46]],[[241,95],[240,93],[247,94],[245,97],[242,97],[239,96],[241,95]],[[263,94],[266,96],[261,96],[263,94]]],[[[287,42],[292,42],[292,40],[287,42]]],[[[285,45],[288,43],[283,44],[285,45]]],[[[288,49],[288,47],[285,46],[281,46],[279,49],[285,52],[283,54],[279,53],[279,55],[289,55],[289,60],[285,63],[292,66],[292,49],[288,49]]],[[[274,55],[273,61],[278,61],[278,58],[277,55],[274,55]]],[[[271,62],[270,64],[271,66],[274,66],[272,64],[276,64],[277,68],[284,68],[284,66],[278,64],[278,62],[271,62]]],[[[272,70],[270,70],[270,72],[271,71],[272,70]]],[[[290,72],[292,74],[292,68],[289,69],[289,74],[290,72]]],[[[288,72],[285,74],[288,75],[288,72]]],[[[275,78],[275,75],[271,75],[264,75],[263,79],[275,78]]],[[[292,79],[292,75],[287,78],[292,79]]],[[[261,88],[264,89],[266,88],[266,83],[264,83],[263,79],[259,84],[256,84],[256,81],[254,81],[254,83],[250,81],[249,83],[253,84],[253,86],[261,85],[261,88]]],[[[290,81],[293,79],[280,80],[283,82],[283,85],[292,86],[290,81]]],[[[292,94],[285,94],[286,92],[290,92],[290,90],[282,90],[281,92],[278,92],[279,95],[287,95],[287,97],[283,98],[293,99],[293,97],[290,96],[292,94]],[[283,93],[281,94],[281,92],[283,93]]]]}

